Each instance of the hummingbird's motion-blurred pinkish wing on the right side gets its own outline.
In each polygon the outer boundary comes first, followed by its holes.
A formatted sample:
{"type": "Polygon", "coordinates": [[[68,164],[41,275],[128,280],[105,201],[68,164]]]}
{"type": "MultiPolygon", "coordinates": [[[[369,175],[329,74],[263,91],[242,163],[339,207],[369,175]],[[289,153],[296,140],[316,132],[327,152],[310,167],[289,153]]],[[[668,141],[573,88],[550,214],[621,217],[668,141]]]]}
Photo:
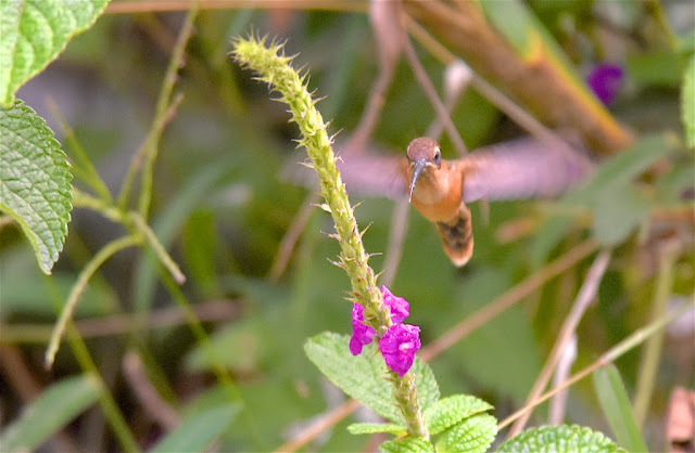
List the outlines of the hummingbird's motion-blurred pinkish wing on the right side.
{"type": "Polygon", "coordinates": [[[464,157],[462,165],[465,202],[558,195],[592,167],[579,152],[531,138],[481,148],[464,157]]]}

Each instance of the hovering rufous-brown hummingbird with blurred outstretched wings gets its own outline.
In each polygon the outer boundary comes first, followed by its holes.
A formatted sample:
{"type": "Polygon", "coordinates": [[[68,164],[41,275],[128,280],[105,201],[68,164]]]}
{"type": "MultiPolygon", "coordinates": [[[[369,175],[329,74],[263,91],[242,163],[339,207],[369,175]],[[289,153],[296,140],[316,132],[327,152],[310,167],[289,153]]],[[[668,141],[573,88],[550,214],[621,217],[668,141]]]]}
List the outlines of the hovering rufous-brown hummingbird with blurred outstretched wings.
{"type": "Polygon", "coordinates": [[[418,138],[407,156],[344,153],[338,161],[348,193],[407,198],[437,225],[444,251],[462,267],[473,250],[466,203],[554,196],[579,182],[592,165],[566,146],[523,138],[442,158],[437,141],[418,138]]]}

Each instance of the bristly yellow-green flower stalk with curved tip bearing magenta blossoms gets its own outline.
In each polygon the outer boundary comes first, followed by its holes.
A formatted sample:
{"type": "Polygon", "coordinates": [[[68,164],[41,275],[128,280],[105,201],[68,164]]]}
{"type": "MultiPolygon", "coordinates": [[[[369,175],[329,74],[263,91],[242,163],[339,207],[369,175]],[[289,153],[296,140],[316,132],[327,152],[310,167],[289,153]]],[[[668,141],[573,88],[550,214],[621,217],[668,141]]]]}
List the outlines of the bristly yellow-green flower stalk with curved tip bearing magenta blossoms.
{"type": "MultiPolygon", "coordinates": [[[[324,209],[330,212],[336,223],[341,247],[338,264],[348,272],[352,284],[351,298],[364,307],[364,322],[374,327],[375,339],[378,340],[393,324],[391,313],[383,303],[375,273],[367,263],[369,255],[362,244],[353,207],[336,167],[338,158],[331,148],[332,137],[328,137],[327,125],[315,106],[317,101],[312,99],[306,88],[306,73],[301,76],[291,67],[293,57],[286,56],[282,48],[282,43],[268,43],[267,38],[251,37],[237,39],[232,54],[237,62],[258,73],[257,78],[267,82],[271,90],[278,91],[281,94],[279,101],[290,106],[291,121],[296,122],[302,133],[299,144],[306,148],[318,173],[321,195],[327,205],[324,209]]],[[[408,433],[428,437],[417,403],[413,373],[399,377],[397,373],[391,371],[389,377],[394,383],[395,399],[401,405],[408,433]]]]}

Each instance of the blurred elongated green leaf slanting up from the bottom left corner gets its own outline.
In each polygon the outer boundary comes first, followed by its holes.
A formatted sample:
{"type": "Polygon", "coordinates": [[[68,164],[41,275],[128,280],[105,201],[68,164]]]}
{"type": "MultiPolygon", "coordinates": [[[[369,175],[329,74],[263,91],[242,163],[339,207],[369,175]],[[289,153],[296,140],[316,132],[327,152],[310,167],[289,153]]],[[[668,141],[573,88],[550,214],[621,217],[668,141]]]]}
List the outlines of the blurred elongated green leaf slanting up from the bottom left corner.
{"type": "Polygon", "coordinates": [[[101,396],[99,379],[90,374],[51,385],[38,400],[0,432],[2,451],[34,451],[63,429],[101,396]]]}

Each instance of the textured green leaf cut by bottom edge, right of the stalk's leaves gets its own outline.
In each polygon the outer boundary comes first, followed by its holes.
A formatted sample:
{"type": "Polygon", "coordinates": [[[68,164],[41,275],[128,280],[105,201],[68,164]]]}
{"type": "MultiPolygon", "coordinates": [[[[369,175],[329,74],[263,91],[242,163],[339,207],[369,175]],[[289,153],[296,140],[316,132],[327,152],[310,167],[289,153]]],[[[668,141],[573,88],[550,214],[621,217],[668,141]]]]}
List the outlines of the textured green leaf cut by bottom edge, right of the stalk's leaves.
{"type": "MultiPolygon", "coordinates": [[[[610,439],[577,425],[531,428],[500,445],[497,452],[624,452],[610,439]]],[[[646,450],[645,450],[646,451],[646,450]]]]}

